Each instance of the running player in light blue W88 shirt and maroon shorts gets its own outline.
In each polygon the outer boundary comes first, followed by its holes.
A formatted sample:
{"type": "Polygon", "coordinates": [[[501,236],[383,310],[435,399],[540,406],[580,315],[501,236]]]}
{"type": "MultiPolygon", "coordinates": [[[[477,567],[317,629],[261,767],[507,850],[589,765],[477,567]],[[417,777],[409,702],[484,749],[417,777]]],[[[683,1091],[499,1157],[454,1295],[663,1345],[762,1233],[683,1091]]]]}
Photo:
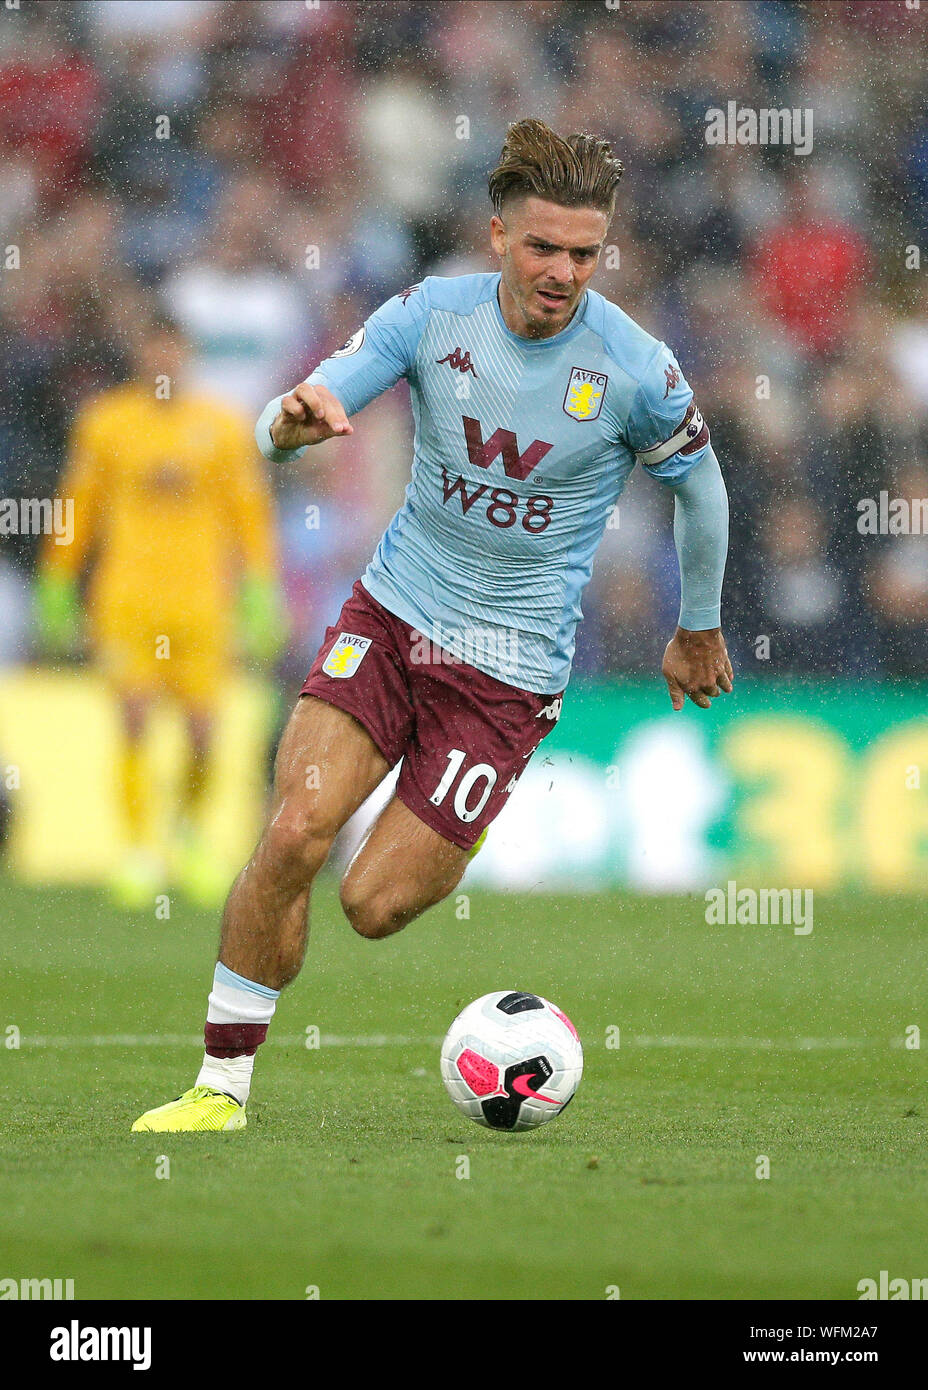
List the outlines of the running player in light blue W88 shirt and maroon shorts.
{"type": "Polygon", "coordinates": [[[404,289],[258,420],[283,461],[351,434],[349,417],[404,377],[413,477],[283,733],[267,828],[225,908],[196,1086],[133,1129],[245,1126],[256,1051],[303,963],[313,878],[400,759],[342,880],[345,915],[376,940],[457,885],[560,714],[581,592],[636,463],[675,498],[672,706],[731,691],[728,503],[709,431],[672,353],[588,289],[621,171],[604,140],[513,125],[489,181],[500,272],[404,289]]]}

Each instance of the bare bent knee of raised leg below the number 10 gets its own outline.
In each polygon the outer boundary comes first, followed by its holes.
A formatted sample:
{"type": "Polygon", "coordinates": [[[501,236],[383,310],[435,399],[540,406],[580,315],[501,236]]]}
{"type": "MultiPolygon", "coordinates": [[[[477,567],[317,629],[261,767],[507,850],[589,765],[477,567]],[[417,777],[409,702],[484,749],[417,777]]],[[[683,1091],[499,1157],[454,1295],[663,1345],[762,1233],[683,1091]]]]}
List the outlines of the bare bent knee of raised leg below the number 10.
{"type": "Polygon", "coordinates": [[[389,937],[446,898],[471,855],[393,796],[342,880],[345,916],[363,937],[389,937]]]}

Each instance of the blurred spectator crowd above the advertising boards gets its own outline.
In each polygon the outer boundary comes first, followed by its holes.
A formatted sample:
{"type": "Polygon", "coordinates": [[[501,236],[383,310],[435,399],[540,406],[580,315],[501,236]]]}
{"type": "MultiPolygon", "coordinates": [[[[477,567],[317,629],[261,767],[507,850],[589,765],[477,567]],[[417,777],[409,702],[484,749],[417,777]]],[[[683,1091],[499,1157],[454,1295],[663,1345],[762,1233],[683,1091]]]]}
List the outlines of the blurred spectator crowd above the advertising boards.
{"type": "MultiPolygon", "coordinates": [[[[182,322],[251,417],[425,274],[492,270],[510,121],[625,163],[593,281],[675,350],[727,475],[724,599],[752,674],[928,674],[928,15],[902,3],[22,0],[0,11],[0,496],[51,496],[75,410],[182,322]],[[809,154],[709,145],[728,101],[811,110],[809,154]],[[11,250],[13,249],[13,250],[11,250]]],[[[275,473],[301,678],[401,499],[400,385],[275,473]],[[307,505],[318,512],[307,513],[307,505]]],[[[635,478],[577,670],[653,673],[671,498],[635,478]]],[[[35,543],[0,535],[0,664],[31,652],[35,543]]]]}

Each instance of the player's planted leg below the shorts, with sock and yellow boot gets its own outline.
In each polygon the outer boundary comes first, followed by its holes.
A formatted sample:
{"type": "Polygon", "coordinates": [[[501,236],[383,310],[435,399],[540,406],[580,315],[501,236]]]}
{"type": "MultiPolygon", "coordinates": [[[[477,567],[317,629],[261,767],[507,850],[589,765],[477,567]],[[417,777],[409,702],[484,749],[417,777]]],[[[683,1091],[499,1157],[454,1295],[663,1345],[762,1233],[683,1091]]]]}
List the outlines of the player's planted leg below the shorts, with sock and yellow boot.
{"type": "Polygon", "coordinates": [[[133,1129],[240,1129],[254,1055],[279,991],[299,973],[313,880],[345,821],[389,764],[351,714],[313,696],[293,710],[275,764],[271,810],[222,917],[196,1086],[133,1129]]]}

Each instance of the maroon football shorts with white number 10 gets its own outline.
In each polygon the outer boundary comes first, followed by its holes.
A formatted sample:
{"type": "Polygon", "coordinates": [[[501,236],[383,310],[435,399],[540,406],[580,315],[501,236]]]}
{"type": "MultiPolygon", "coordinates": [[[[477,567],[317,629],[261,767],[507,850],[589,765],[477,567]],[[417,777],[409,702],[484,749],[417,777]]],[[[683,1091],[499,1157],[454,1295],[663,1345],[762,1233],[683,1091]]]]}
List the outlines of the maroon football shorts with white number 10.
{"type": "Polygon", "coordinates": [[[353,714],[390,767],[401,758],[399,799],[471,849],[557,723],[563,692],[535,695],[451,659],[358,580],[300,695],[353,714]]]}

